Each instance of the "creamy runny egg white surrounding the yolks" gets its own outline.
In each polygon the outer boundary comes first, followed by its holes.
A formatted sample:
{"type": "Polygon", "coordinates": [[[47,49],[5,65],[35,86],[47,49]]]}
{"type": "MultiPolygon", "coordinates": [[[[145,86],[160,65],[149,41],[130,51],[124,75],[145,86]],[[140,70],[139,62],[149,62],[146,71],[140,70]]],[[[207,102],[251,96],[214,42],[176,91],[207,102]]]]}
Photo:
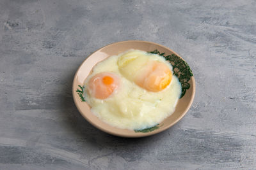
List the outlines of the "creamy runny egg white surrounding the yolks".
{"type": "MultiPolygon", "coordinates": [[[[164,57],[139,51],[147,55],[150,60],[157,60],[166,64],[172,70],[172,66],[164,57]]],[[[121,129],[140,130],[159,124],[164,118],[172,115],[181,94],[181,85],[177,76],[173,75],[168,87],[160,92],[148,92],[139,87],[133,81],[127,80],[120,73],[117,65],[118,57],[114,55],[99,62],[93,67],[92,74],[86,78],[88,81],[97,73],[111,72],[120,77],[120,87],[107,99],[96,99],[85,90],[86,102],[91,106],[91,111],[100,120],[113,127],[121,129]]]]}

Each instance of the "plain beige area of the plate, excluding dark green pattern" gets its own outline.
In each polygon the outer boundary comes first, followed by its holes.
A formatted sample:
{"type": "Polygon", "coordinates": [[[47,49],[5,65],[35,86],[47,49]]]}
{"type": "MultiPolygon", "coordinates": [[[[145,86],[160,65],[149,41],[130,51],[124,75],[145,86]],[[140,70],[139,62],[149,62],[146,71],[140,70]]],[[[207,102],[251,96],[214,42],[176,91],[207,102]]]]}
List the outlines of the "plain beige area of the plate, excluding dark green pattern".
{"type": "Polygon", "coordinates": [[[111,55],[117,55],[118,53],[122,53],[129,49],[138,49],[145,52],[151,52],[157,49],[159,50],[159,52],[165,53],[165,55],[175,54],[179,56],[177,53],[173,52],[172,50],[166,48],[163,45],[158,45],[156,43],[148,41],[121,41],[104,46],[96,52],[92,53],[86,60],[84,60],[84,62],[77,70],[73,81],[73,98],[76,103],[77,109],[80,111],[81,115],[83,115],[83,117],[86,118],[86,120],[90,122],[90,124],[94,125],[95,127],[104,132],[113,134],[115,136],[122,136],[128,138],[150,136],[152,134],[157,134],[168,129],[169,127],[177,123],[182,117],[184,117],[186,112],[189,110],[189,107],[191,106],[195,96],[194,76],[192,76],[191,79],[188,81],[188,83],[190,84],[190,88],[186,90],[186,94],[181,99],[179,99],[175,112],[170,115],[170,117],[165,118],[163,122],[161,122],[157,126],[157,128],[155,128],[154,131],[152,131],[151,129],[148,132],[135,132],[127,129],[118,129],[102,122],[99,118],[97,118],[95,115],[93,115],[93,113],[90,112],[90,106],[88,106],[86,102],[81,101],[79,94],[77,94],[76,92],[77,89],[79,89],[78,85],[83,86],[84,80],[90,74],[93,66],[95,66],[97,62],[100,62],[101,60],[104,60],[111,55]]]}

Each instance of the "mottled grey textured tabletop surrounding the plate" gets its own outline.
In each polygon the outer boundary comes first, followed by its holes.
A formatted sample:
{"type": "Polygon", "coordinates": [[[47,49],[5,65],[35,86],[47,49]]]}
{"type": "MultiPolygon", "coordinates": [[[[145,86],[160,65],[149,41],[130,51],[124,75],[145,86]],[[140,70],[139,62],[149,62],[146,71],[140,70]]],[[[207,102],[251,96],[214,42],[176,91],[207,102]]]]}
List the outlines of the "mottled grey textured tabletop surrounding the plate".
{"type": "Polygon", "coordinates": [[[256,1],[0,0],[0,169],[256,169],[256,1]],[[186,117],[118,138],[79,114],[72,80],[93,51],[141,39],[195,74],[186,117]]]}

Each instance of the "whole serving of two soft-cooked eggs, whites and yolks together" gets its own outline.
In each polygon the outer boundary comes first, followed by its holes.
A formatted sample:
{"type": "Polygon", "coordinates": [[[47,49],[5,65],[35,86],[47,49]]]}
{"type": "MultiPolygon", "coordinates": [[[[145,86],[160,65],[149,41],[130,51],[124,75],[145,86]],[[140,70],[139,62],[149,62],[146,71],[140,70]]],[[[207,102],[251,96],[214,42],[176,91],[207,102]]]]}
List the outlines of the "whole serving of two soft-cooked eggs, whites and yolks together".
{"type": "Polygon", "coordinates": [[[93,67],[84,82],[92,113],[121,129],[145,129],[175,111],[181,94],[172,66],[162,56],[129,50],[93,67]]]}

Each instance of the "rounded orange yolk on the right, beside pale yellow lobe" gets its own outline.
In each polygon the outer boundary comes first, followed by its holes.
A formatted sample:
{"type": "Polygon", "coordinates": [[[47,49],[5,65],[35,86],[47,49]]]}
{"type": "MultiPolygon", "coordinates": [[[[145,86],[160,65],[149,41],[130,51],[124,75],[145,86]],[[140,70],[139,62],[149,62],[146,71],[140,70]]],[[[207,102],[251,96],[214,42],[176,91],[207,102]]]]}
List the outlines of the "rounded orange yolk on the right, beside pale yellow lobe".
{"type": "Polygon", "coordinates": [[[172,81],[172,71],[165,64],[152,61],[144,66],[136,76],[136,84],[150,92],[165,89],[172,81]]]}

